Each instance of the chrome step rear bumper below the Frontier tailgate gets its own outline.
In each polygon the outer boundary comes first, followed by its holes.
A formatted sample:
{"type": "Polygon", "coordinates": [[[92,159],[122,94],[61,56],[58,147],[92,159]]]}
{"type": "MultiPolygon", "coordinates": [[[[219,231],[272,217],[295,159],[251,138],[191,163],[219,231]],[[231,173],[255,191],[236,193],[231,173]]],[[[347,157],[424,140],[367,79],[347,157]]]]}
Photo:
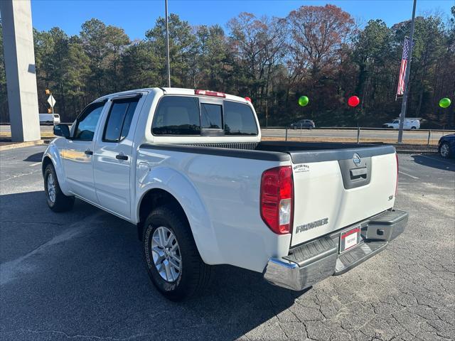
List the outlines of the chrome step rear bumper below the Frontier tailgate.
{"type": "Polygon", "coordinates": [[[391,210],[291,249],[281,259],[269,259],[264,279],[275,286],[301,291],[326,277],[341,275],[378,254],[405,230],[407,212],[391,210]],[[341,232],[360,226],[360,244],[339,253],[341,232]]]}

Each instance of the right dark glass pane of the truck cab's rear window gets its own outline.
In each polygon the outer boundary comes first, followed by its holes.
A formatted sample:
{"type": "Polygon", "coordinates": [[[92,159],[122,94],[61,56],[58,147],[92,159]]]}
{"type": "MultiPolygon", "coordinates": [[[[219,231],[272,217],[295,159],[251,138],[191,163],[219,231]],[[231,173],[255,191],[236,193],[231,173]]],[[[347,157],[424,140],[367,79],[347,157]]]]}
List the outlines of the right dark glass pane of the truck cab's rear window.
{"type": "Polygon", "coordinates": [[[255,114],[247,104],[224,101],[225,134],[257,135],[255,114]]]}

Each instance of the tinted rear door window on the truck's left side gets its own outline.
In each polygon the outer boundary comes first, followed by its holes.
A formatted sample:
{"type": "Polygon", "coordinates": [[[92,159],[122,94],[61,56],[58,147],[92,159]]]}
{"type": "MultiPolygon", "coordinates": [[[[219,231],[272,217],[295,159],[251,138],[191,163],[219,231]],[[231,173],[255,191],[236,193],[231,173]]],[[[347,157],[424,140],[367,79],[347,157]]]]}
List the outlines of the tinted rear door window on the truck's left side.
{"type": "Polygon", "coordinates": [[[112,102],[102,140],[119,142],[127,137],[139,98],[117,99],[112,102]]]}

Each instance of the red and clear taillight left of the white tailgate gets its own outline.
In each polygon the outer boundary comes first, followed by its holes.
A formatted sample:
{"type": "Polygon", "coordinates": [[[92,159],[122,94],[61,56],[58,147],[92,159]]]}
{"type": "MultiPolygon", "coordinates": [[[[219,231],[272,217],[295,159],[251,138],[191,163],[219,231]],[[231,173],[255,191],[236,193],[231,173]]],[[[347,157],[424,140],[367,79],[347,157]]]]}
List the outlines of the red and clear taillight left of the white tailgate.
{"type": "Polygon", "coordinates": [[[264,171],[261,178],[261,217],[273,232],[291,232],[293,205],[294,183],[291,166],[264,171]]]}

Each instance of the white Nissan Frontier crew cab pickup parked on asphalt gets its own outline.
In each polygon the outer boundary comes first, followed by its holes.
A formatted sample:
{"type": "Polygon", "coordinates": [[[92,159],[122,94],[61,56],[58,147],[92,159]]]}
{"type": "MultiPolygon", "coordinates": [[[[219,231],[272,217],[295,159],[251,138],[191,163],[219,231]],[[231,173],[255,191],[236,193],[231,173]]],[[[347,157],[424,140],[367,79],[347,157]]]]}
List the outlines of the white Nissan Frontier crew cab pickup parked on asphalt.
{"type": "Polygon", "coordinates": [[[137,224],[151,281],[178,301],[211,265],[303,290],[382,251],[394,210],[393,146],[261,141],[251,102],[176,88],[109,94],[43,155],[51,210],[80,198],[137,224]]]}

